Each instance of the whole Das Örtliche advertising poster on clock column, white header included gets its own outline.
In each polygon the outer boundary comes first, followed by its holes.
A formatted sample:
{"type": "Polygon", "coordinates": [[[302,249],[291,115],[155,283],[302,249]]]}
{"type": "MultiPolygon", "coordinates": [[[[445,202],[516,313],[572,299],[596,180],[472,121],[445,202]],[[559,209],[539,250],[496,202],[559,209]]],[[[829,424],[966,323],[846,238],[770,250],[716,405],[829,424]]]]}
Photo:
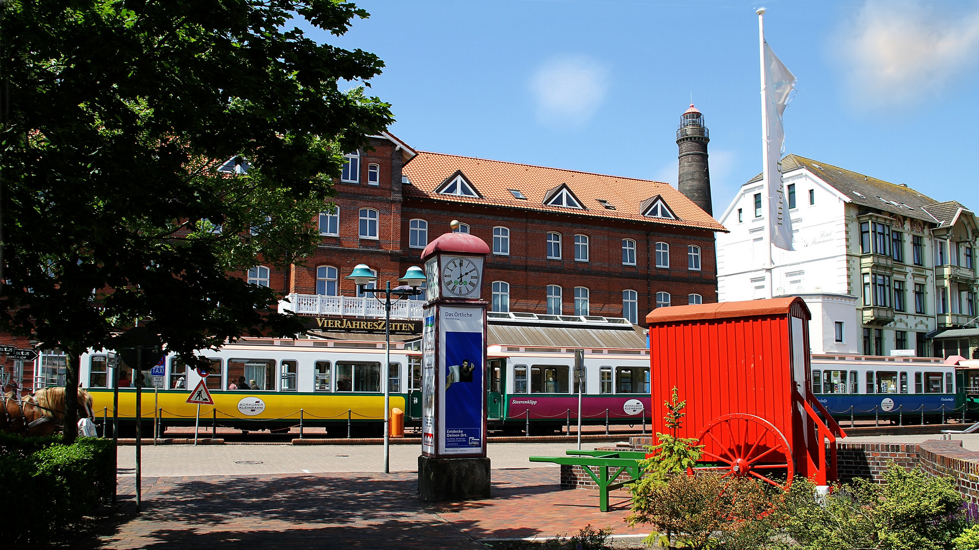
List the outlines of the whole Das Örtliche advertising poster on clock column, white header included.
{"type": "Polygon", "coordinates": [[[483,455],[486,389],[482,307],[440,308],[439,454],[483,455]]]}

